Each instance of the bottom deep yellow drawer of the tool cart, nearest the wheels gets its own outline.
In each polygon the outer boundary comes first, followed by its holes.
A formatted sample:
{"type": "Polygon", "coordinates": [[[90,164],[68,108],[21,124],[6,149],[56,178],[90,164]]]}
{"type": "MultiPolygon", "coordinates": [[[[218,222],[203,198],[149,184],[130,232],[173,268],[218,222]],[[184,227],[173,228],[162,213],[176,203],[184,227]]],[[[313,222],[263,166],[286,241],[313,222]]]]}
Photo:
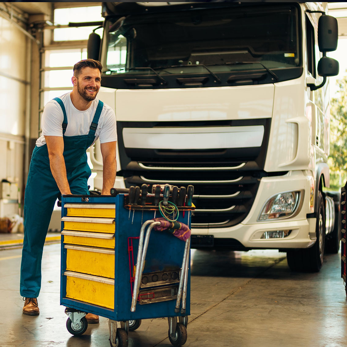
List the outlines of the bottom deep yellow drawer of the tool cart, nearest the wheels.
{"type": "Polygon", "coordinates": [[[115,308],[115,281],[65,271],[66,297],[102,307],[115,308]]]}

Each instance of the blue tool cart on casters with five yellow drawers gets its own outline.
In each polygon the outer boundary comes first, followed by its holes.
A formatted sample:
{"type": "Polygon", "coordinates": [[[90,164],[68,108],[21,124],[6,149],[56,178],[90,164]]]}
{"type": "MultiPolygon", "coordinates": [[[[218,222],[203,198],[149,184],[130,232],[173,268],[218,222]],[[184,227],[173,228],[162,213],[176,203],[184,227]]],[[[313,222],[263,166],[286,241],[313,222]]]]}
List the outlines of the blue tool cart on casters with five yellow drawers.
{"type": "Polygon", "coordinates": [[[71,334],[86,331],[90,312],[109,318],[111,347],[126,347],[142,319],[167,317],[172,345],[185,343],[192,195],[192,186],[147,194],[143,185],[62,197],[60,303],[71,334]]]}

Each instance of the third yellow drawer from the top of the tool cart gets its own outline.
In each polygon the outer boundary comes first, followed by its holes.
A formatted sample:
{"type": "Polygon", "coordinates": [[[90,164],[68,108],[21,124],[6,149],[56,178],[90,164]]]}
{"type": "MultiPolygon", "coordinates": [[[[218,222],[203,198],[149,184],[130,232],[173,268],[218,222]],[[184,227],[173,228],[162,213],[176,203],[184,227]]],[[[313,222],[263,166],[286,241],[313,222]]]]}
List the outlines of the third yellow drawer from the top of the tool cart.
{"type": "Polygon", "coordinates": [[[64,243],[115,249],[115,236],[101,232],[63,230],[64,243]]]}

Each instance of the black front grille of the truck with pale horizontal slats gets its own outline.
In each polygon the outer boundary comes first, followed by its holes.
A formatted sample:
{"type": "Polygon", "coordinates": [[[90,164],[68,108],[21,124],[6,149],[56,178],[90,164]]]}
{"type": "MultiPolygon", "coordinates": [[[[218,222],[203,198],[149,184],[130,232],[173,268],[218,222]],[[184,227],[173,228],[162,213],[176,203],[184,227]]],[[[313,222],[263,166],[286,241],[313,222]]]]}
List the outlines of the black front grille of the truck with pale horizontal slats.
{"type": "MultiPolygon", "coordinates": [[[[267,140],[270,120],[261,119],[256,124],[264,125],[264,139],[267,140]]],[[[129,149],[122,142],[122,128],[129,126],[135,125],[133,122],[117,123],[122,167],[117,175],[124,177],[126,187],[143,183],[168,183],[178,187],[192,184],[196,206],[192,215],[193,228],[231,227],[245,219],[252,208],[260,178],[266,176],[263,165],[267,141],[260,147],[241,151],[129,149]]]]}

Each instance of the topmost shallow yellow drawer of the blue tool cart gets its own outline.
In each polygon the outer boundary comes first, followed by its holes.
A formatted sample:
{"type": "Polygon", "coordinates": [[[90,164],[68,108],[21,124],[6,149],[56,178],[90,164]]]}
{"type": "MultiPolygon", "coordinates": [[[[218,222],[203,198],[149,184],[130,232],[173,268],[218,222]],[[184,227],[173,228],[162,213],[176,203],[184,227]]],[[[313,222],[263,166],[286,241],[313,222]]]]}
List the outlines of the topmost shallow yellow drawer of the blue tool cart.
{"type": "Polygon", "coordinates": [[[65,204],[68,217],[116,218],[116,204],[65,204]]]}

